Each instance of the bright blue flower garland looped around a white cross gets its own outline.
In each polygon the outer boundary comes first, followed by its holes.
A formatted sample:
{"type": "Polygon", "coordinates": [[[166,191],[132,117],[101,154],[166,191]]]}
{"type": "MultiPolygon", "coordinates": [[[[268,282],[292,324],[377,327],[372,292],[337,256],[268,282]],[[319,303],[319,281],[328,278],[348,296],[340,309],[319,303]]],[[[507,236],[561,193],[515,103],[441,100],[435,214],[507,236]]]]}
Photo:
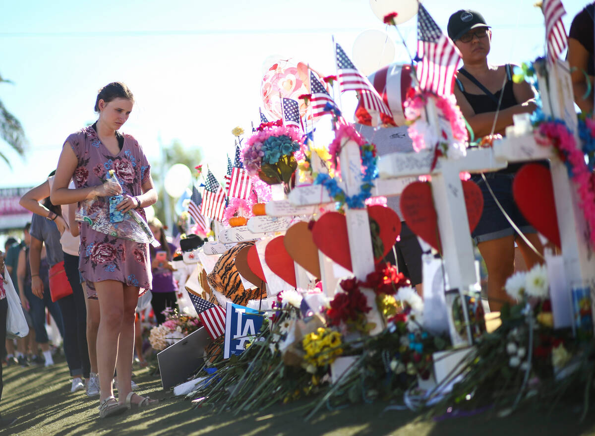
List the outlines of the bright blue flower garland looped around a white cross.
{"type": "Polygon", "coordinates": [[[342,188],[340,188],[337,180],[330,177],[328,174],[320,173],[314,180],[315,185],[322,185],[327,189],[334,201],[337,202],[337,208],[343,204],[347,204],[350,209],[362,209],[365,207],[365,201],[372,197],[372,187],[374,183],[372,180],[378,178],[378,169],[376,163],[375,147],[372,144],[364,144],[359,147],[362,156],[362,167],[364,173],[362,174],[362,184],[359,186],[358,194],[347,195],[342,188]]]}

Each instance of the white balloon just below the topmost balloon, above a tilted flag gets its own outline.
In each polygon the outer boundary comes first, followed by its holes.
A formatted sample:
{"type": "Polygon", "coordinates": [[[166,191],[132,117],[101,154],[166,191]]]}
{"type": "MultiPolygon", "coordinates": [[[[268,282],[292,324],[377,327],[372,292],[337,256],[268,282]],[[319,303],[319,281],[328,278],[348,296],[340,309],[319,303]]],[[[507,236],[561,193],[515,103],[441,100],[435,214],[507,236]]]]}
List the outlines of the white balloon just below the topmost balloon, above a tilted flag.
{"type": "Polygon", "coordinates": [[[394,52],[393,40],[382,30],[364,30],[353,41],[353,63],[364,76],[392,63],[394,52]]]}

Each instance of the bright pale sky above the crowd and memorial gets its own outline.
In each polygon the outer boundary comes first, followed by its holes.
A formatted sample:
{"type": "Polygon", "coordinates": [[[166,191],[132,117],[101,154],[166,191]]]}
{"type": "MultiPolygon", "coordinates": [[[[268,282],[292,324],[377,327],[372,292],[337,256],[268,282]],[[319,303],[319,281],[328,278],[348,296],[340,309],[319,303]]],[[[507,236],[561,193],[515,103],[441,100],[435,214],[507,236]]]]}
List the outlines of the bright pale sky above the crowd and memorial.
{"type": "MultiPolygon", "coordinates": [[[[424,1],[443,29],[459,8],[480,11],[493,27],[492,63],[543,55],[543,15],[533,3],[424,1]]],[[[568,30],[586,1],[563,3],[568,30]]],[[[416,25],[412,18],[399,26],[411,52],[416,25]]],[[[249,132],[250,122],[258,123],[264,60],[292,57],[334,74],[331,35],[351,55],[366,29],[386,30],[368,0],[0,0],[0,74],[14,82],[0,85],[0,100],[29,141],[23,160],[0,140],[12,163],[0,162],[0,187],[42,182],[68,134],[95,120],[98,88],[114,80],[134,93],[122,130],[139,139],[149,160],[159,156],[159,144],[179,139],[200,147],[202,163],[221,176],[226,152],[233,155],[231,129],[249,132]]],[[[387,32],[395,61],[407,62],[399,34],[387,32]]],[[[353,94],[343,96],[344,108],[353,94]]]]}

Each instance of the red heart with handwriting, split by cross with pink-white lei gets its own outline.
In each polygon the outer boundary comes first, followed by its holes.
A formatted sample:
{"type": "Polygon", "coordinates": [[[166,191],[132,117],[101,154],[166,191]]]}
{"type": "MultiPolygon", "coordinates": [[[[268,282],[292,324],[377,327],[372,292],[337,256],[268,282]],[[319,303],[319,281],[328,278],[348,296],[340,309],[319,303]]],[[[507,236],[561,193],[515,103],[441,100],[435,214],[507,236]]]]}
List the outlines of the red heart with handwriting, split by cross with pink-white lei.
{"type": "MultiPolygon", "coordinates": [[[[465,196],[469,230],[474,231],[483,212],[483,194],[472,180],[461,182],[465,196]]],[[[413,182],[403,189],[400,207],[405,222],[412,232],[424,239],[436,250],[440,250],[438,216],[434,209],[432,189],[428,182],[413,182]]]]}

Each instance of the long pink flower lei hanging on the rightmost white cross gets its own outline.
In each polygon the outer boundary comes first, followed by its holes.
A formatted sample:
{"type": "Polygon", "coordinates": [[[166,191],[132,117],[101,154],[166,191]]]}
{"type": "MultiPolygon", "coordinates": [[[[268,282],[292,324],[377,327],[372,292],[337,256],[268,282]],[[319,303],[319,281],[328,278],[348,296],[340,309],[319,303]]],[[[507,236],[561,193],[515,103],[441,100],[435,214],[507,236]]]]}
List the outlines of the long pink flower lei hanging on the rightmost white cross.
{"type": "Polygon", "coordinates": [[[560,159],[570,165],[572,180],[577,184],[580,197],[579,205],[587,222],[591,247],[595,248],[595,192],[583,151],[577,148],[574,135],[561,122],[541,123],[535,132],[535,140],[544,147],[553,145],[560,159]]]}

